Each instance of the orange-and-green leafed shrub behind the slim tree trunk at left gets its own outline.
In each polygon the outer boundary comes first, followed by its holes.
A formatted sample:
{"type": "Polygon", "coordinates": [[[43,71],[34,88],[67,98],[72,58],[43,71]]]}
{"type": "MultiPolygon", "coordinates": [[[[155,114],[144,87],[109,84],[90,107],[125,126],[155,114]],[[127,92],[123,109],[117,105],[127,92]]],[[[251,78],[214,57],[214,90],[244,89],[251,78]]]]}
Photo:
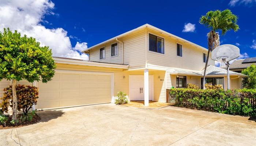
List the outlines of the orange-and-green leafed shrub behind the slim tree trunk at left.
{"type": "MultiPolygon", "coordinates": [[[[22,109],[23,113],[27,115],[33,104],[37,104],[38,88],[29,85],[16,86],[16,93],[18,98],[18,111],[22,109]]],[[[0,111],[8,112],[8,106],[12,107],[12,86],[4,88],[4,96],[1,97],[0,111]]]]}

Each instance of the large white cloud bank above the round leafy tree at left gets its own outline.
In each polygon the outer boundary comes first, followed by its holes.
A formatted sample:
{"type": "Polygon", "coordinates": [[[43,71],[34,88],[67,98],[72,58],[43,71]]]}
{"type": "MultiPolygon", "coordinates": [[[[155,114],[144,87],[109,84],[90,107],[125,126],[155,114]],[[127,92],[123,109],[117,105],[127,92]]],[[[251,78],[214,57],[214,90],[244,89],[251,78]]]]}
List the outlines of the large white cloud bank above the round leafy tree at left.
{"type": "MultiPolygon", "coordinates": [[[[63,28],[48,29],[40,24],[47,22],[44,15],[56,15],[52,12],[53,8],[54,3],[49,0],[26,0],[22,3],[19,0],[1,1],[0,30],[9,27],[12,31],[18,30],[22,35],[34,37],[41,46],[49,46],[53,56],[88,60],[88,55],[72,47],[67,31],[63,28]]],[[[87,48],[84,45],[87,43],[79,44],[87,48]]]]}

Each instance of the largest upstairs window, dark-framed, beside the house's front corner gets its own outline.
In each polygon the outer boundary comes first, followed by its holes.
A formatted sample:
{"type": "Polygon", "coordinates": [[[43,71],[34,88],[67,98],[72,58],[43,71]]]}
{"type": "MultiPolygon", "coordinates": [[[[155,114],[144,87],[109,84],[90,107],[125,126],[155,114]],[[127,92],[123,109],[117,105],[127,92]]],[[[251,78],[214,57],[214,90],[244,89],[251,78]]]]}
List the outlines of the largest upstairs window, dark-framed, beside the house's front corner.
{"type": "Polygon", "coordinates": [[[165,54],[164,39],[153,34],[149,34],[149,50],[165,54]]]}

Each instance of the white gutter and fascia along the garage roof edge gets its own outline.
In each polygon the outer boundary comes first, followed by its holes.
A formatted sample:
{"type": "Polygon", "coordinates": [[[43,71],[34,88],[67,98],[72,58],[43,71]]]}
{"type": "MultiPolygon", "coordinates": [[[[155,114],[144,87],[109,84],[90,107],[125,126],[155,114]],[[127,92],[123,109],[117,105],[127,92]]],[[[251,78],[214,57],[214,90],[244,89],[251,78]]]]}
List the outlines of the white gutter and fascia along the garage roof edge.
{"type": "Polygon", "coordinates": [[[74,65],[98,66],[98,67],[119,68],[119,69],[129,68],[129,65],[108,64],[108,63],[102,63],[102,62],[79,61],[79,60],[61,59],[61,58],[53,58],[53,59],[55,63],[59,63],[59,64],[74,64],[74,65]]]}

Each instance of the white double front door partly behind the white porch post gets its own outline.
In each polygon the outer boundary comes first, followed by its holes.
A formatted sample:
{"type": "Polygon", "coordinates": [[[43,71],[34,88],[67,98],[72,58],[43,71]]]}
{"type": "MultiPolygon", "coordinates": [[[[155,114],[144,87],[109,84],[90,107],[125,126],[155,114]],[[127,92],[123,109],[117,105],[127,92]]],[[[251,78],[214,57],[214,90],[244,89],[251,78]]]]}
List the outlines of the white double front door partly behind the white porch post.
{"type": "MultiPolygon", "coordinates": [[[[129,76],[130,100],[144,100],[144,76],[129,76]]],[[[148,98],[153,100],[153,76],[148,77],[148,98]]]]}

